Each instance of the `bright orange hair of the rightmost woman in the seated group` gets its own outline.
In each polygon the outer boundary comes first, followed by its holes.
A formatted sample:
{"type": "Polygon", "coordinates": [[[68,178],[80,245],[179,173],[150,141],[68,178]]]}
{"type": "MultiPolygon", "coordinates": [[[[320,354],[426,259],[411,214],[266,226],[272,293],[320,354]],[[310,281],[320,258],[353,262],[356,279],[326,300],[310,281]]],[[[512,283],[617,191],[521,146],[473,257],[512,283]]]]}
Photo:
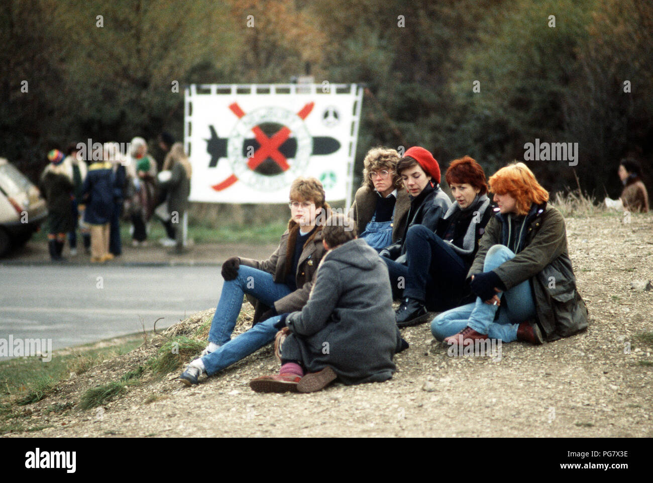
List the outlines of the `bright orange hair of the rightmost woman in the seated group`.
{"type": "Polygon", "coordinates": [[[533,172],[524,163],[511,163],[502,167],[488,180],[490,192],[508,193],[517,201],[517,214],[528,214],[532,203],[541,205],[549,200],[549,192],[542,188],[533,172]]]}

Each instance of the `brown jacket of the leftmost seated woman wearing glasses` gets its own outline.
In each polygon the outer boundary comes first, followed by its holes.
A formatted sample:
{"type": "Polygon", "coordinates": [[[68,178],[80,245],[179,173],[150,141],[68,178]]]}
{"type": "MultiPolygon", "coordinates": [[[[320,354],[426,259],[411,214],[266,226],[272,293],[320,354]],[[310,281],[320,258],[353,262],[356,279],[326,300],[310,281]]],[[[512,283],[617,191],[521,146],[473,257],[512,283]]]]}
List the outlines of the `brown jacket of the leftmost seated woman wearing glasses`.
{"type": "MultiPolygon", "coordinates": [[[[319,265],[325,254],[325,249],[322,244],[322,229],[322,226],[317,226],[313,235],[311,235],[306,243],[304,243],[304,249],[299,257],[297,271],[295,273],[295,285],[297,290],[289,293],[285,297],[281,297],[281,299],[274,303],[274,308],[278,314],[301,310],[306,304],[308,295],[313,287],[313,276],[317,271],[317,265],[319,265]]],[[[281,235],[279,246],[274,250],[274,253],[270,258],[264,261],[259,261],[251,258],[240,257],[241,265],[247,265],[247,267],[263,270],[272,275],[274,282],[278,284],[285,283],[287,271],[291,268],[288,264],[292,265],[293,263],[293,252],[295,250],[295,241],[298,233],[299,224],[297,224],[295,220],[290,220],[288,229],[283,233],[283,235],[281,235]]],[[[262,311],[262,309],[257,310],[257,312],[262,311]]],[[[255,317],[255,322],[257,321],[258,319],[255,317]]]]}

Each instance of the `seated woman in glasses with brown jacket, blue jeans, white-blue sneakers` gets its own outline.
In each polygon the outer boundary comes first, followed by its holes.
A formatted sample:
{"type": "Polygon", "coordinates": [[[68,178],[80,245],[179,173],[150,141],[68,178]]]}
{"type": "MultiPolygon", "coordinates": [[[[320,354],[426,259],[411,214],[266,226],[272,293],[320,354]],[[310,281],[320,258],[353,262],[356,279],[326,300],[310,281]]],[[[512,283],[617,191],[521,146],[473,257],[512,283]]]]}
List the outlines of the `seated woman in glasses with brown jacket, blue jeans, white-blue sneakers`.
{"type": "Polygon", "coordinates": [[[197,384],[202,373],[209,376],[249,356],[274,341],[274,327],[282,314],[306,305],[317,267],[325,254],[322,229],[330,215],[324,188],[315,178],[297,178],[290,189],[291,219],[274,253],[264,261],[232,257],[222,265],[220,300],[202,356],[186,367],[179,379],[197,384]],[[247,332],[231,339],[244,295],[255,297],[268,310],[247,332]]]}

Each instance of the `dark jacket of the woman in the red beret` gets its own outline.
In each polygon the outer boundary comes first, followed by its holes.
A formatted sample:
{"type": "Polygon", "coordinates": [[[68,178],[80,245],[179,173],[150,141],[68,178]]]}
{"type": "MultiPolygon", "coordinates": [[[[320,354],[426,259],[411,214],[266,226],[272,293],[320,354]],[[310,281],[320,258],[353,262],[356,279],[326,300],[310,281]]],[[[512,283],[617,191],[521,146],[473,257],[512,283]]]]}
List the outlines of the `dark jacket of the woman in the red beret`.
{"type": "Polygon", "coordinates": [[[406,260],[406,235],[413,225],[424,225],[434,233],[438,229],[440,218],[451,206],[451,199],[443,192],[439,184],[427,184],[419,195],[411,196],[411,205],[407,215],[407,225],[404,227],[402,238],[394,244],[383,248],[379,255],[404,263],[406,260]]]}

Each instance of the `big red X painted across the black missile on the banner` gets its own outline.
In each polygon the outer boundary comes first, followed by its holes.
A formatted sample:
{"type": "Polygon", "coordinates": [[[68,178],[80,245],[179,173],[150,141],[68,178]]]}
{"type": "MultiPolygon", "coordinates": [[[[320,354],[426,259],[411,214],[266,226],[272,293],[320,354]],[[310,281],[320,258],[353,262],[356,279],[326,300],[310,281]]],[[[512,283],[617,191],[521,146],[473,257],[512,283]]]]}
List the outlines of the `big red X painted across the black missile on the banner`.
{"type": "MultiPolygon", "coordinates": [[[[315,106],[315,103],[306,104],[297,113],[297,115],[302,119],[306,119],[308,114],[311,113],[311,110],[313,110],[313,106],[315,106]]],[[[240,108],[238,103],[233,103],[232,105],[229,106],[229,108],[231,109],[231,112],[236,114],[236,116],[239,119],[245,116],[245,112],[240,108]]],[[[268,158],[272,158],[274,162],[277,163],[277,165],[281,168],[282,171],[287,170],[289,168],[287,159],[285,158],[285,156],[283,156],[283,154],[281,154],[281,152],[279,151],[279,147],[288,140],[291,134],[291,130],[287,126],[283,126],[272,137],[267,137],[267,135],[263,132],[261,127],[257,125],[252,127],[251,131],[254,133],[255,139],[259,143],[259,149],[257,149],[254,152],[254,155],[251,158],[249,158],[249,160],[247,161],[247,166],[249,167],[249,169],[253,171],[261,163],[263,163],[263,161],[265,161],[268,158]]],[[[229,186],[234,184],[236,181],[238,181],[238,176],[231,175],[223,182],[220,182],[215,186],[212,186],[212,188],[216,191],[221,191],[224,190],[225,188],[229,188],[229,186]]]]}

